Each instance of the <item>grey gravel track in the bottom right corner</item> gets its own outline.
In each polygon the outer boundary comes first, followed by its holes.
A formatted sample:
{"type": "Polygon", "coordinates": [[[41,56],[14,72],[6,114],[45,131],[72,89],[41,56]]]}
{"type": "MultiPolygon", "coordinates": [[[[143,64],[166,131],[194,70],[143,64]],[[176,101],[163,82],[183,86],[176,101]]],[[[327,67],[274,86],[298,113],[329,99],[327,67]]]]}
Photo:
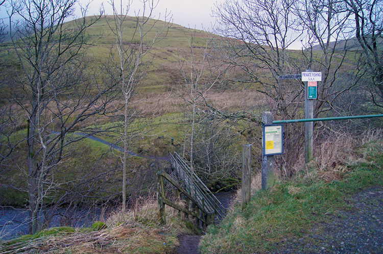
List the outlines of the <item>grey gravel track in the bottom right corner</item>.
{"type": "Polygon", "coordinates": [[[383,187],[372,187],[347,199],[352,209],[329,215],[301,237],[276,243],[271,253],[383,253],[383,187]]]}

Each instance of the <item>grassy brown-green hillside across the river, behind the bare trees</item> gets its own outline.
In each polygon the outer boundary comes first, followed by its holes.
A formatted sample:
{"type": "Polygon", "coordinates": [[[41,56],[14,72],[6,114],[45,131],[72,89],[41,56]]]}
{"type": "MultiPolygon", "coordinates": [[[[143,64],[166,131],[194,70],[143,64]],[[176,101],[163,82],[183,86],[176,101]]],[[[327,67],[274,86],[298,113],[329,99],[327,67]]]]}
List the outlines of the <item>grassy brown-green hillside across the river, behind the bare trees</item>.
{"type": "MultiPolygon", "coordinates": [[[[91,17],[87,19],[89,21],[91,17]]],[[[73,28],[75,23],[79,21],[69,21],[65,23],[65,26],[73,28]]],[[[129,37],[133,34],[135,22],[132,17],[128,18],[127,21],[126,34],[129,37]]],[[[110,50],[115,50],[113,49],[115,36],[110,32],[107,22],[112,22],[111,16],[103,17],[86,31],[88,44],[80,55],[84,62],[73,67],[74,69],[81,69],[82,72],[67,75],[64,79],[59,77],[60,73],[55,77],[57,82],[63,81],[65,83],[66,80],[71,81],[72,79],[75,81],[74,84],[65,86],[65,93],[60,93],[56,97],[58,100],[55,103],[53,102],[54,97],[49,97],[51,94],[48,96],[50,103],[47,104],[50,108],[44,111],[46,115],[41,118],[42,121],[46,120],[43,133],[47,133],[46,138],[48,140],[59,138],[60,135],[52,134],[58,134],[61,130],[65,130],[67,125],[76,119],[78,112],[80,112],[79,109],[86,105],[87,100],[83,99],[82,95],[97,95],[98,88],[110,83],[110,79],[106,78],[108,73],[105,66],[110,63],[108,62],[110,61],[110,50]],[[79,74],[78,77],[77,74],[79,74]],[[82,80],[83,77],[87,78],[82,80]],[[60,116],[61,119],[60,117],[55,118],[57,115],[54,114],[60,110],[65,113],[60,116]],[[55,120],[49,120],[53,118],[55,120]],[[60,128],[60,124],[67,125],[60,128]]],[[[151,23],[154,24],[154,22],[151,20],[151,23]]],[[[162,21],[157,22],[146,39],[151,40],[150,37],[161,30],[162,26],[162,21]]],[[[130,104],[132,110],[142,114],[131,118],[128,129],[130,133],[129,151],[131,154],[139,155],[138,157],[131,156],[128,159],[130,167],[128,192],[131,200],[139,195],[153,193],[156,171],[169,166],[166,161],[153,158],[167,157],[169,152],[181,152],[185,147],[185,137],[190,129],[188,125],[190,113],[187,108],[188,102],[186,98],[182,97],[188,88],[183,84],[184,77],[181,74],[180,66],[182,61],[193,56],[190,54],[189,47],[189,40],[192,37],[194,57],[196,61],[200,61],[201,50],[206,46],[205,39],[207,40],[208,37],[212,36],[203,31],[180,27],[177,24],[171,24],[166,33],[166,37],[155,44],[147,56],[151,58],[151,64],[148,65],[145,79],[135,88],[136,93],[130,104]]],[[[17,41],[16,45],[20,46],[20,49],[29,46],[22,45],[21,41],[17,41]]],[[[26,78],[28,77],[27,74],[30,73],[29,69],[21,67],[10,42],[2,44],[1,53],[0,70],[4,75],[0,87],[0,101],[1,110],[4,114],[0,119],[2,124],[0,151],[2,155],[5,155],[1,161],[2,168],[4,167],[5,170],[1,174],[4,181],[0,186],[0,191],[4,195],[0,197],[0,205],[25,207],[28,205],[28,176],[24,171],[27,167],[26,158],[28,157],[28,110],[33,106],[30,100],[33,97],[31,96],[32,92],[25,89],[25,86],[29,84],[26,78]],[[20,74],[23,71],[25,72],[20,74]],[[14,188],[7,188],[6,186],[13,186],[14,188]]],[[[113,67],[118,66],[117,63],[114,64],[113,67]]],[[[55,85],[54,82],[52,84],[55,85]]],[[[48,89],[48,91],[55,91],[55,89],[48,89]]],[[[100,112],[94,118],[81,120],[69,133],[66,133],[65,139],[63,139],[63,143],[68,144],[63,150],[65,159],[49,168],[52,169],[50,176],[55,179],[55,184],[47,187],[52,189],[52,193],[55,193],[46,199],[49,204],[54,206],[92,206],[104,202],[115,202],[120,198],[122,148],[119,150],[112,149],[105,143],[123,146],[121,141],[123,133],[121,126],[123,114],[121,111],[121,105],[123,105],[121,88],[116,87],[108,96],[110,99],[106,107],[112,108],[113,113],[100,112]],[[99,132],[97,137],[104,140],[104,143],[84,139],[94,130],[99,132]],[[81,140],[72,144],[71,140],[73,139],[81,140]],[[90,185],[88,184],[89,181],[91,182],[90,185]],[[65,198],[60,199],[59,196],[62,194],[65,198]],[[72,202],[74,198],[77,199],[76,202],[72,202]]],[[[215,91],[208,95],[209,99],[214,101],[214,105],[219,108],[234,108],[240,104],[244,105],[243,98],[246,98],[247,106],[250,107],[255,96],[255,94],[249,94],[242,90],[215,91]],[[226,99],[228,96],[233,96],[230,102],[226,99]]],[[[103,103],[102,99],[100,99],[101,103],[103,103]]],[[[226,130],[231,131],[230,129],[226,130]]],[[[236,139],[233,145],[237,145],[239,140],[241,138],[236,139]]],[[[36,149],[40,148],[38,144],[36,149]]],[[[40,151],[38,150],[38,152],[40,151]]],[[[57,158],[56,156],[57,154],[54,154],[52,157],[57,158]]],[[[36,156],[36,158],[40,157],[36,156]]]]}

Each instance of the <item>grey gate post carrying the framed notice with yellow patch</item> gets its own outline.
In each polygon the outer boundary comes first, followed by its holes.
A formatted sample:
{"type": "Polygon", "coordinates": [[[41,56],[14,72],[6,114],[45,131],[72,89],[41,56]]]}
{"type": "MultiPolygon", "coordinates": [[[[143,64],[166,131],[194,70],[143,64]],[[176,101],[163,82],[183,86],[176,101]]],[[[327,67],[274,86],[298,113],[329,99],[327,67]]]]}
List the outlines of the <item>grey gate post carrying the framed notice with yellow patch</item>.
{"type": "MultiPolygon", "coordinates": [[[[273,114],[271,114],[271,112],[262,113],[262,123],[265,125],[272,124],[273,114]]],[[[274,156],[262,155],[262,183],[261,183],[262,189],[264,190],[269,189],[273,185],[274,185],[274,156]]]]}

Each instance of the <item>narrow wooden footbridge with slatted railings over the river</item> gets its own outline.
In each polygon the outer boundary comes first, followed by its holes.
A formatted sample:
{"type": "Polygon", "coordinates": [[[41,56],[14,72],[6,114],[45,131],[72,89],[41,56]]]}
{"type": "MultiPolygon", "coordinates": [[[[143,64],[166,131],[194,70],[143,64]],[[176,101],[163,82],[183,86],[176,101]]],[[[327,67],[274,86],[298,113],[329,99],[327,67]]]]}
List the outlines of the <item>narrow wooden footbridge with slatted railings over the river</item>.
{"type": "Polygon", "coordinates": [[[160,223],[166,222],[165,205],[173,207],[187,215],[197,218],[202,225],[213,223],[216,218],[222,219],[224,208],[220,201],[205,186],[190,166],[177,153],[170,154],[172,162],[171,173],[160,171],[157,173],[158,217],[160,223]],[[167,182],[164,182],[166,180],[167,182]],[[186,200],[186,206],[176,204],[165,197],[164,183],[172,186],[174,199],[186,200]],[[182,195],[180,195],[182,193],[182,195]]]}

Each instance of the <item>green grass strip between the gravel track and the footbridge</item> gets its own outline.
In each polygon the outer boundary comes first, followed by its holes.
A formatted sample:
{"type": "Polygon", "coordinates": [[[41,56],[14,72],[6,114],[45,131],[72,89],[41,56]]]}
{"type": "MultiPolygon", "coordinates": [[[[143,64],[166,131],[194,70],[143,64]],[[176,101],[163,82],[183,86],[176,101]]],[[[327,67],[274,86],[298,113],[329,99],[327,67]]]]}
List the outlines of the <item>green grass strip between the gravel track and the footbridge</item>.
{"type": "Polygon", "coordinates": [[[325,182],[304,177],[258,191],[241,212],[236,204],[219,227],[210,226],[201,241],[202,253],[264,253],[286,237],[301,237],[329,214],[349,209],[345,198],[371,186],[383,186],[383,142],[361,148],[367,162],[348,166],[342,180],[325,182]]]}

